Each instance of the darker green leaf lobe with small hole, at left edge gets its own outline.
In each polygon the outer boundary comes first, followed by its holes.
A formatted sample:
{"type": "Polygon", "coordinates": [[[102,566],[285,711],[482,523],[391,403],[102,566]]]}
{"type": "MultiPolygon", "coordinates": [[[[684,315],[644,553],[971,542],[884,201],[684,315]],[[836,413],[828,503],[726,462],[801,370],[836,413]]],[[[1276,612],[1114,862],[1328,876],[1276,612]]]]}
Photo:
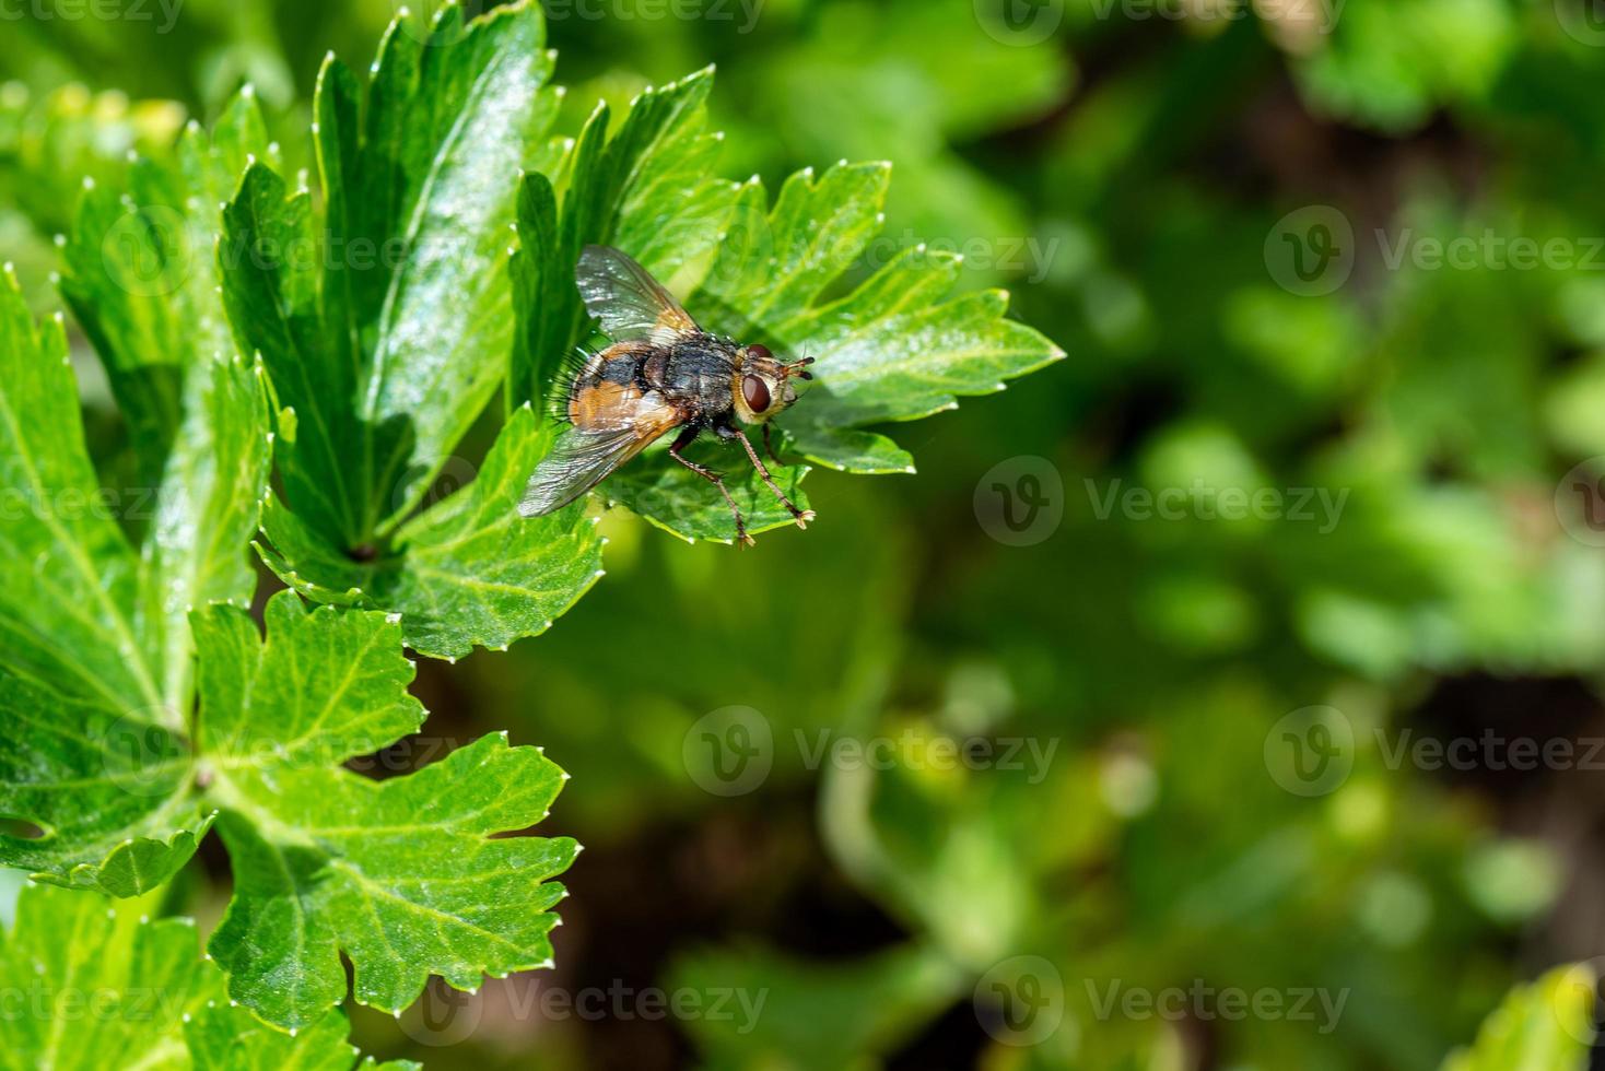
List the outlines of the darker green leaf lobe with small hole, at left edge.
{"type": "Polygon", "coordinates": [[[210,816],[186,795],[189,755],[160,721],[91,705],[0,672],[0,864],[58,885],[136,896],[178,872],[210,816]]]}

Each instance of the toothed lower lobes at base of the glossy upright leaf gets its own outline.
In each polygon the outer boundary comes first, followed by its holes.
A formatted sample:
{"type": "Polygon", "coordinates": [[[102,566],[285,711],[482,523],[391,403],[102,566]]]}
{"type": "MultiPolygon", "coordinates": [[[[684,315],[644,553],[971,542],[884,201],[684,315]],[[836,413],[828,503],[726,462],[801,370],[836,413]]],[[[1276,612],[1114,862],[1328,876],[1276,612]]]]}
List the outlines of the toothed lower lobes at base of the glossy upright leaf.
{"type": "Polygon", "coordinates": [[[408,521],[393,550],[374,561],[332,550],[279,502],[263,515],[258,550],[308,598],[401,611],[406,643],[419,654],[506,649],[546,632],[602,576],[602,539],[583,507],[518,516],[518,495],[549,439],[530,407],[515,412],[478,476],[408,521]]]}

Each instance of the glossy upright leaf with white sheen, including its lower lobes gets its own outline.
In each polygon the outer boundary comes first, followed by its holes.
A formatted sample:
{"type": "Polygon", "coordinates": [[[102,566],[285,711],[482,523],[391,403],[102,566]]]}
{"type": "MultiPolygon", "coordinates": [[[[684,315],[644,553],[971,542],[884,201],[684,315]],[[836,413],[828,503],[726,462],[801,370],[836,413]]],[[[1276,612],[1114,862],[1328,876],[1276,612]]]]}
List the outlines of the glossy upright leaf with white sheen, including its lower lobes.
{"type": "Polygon", "coordinates": [[[400,611],[408,643],[438,657],[542,632],[600,566],[578,508],[514,511],[544,443],[528,418],[472,487],[416,513],[506,367],[517,164],[555,112],[539,10],[464,19],[398,21],[366,87],[331,58],[316,101],[327,208],[257,165],[223,245],[236,330],[286,407],[265,561],[308,596],[400,611]]]}

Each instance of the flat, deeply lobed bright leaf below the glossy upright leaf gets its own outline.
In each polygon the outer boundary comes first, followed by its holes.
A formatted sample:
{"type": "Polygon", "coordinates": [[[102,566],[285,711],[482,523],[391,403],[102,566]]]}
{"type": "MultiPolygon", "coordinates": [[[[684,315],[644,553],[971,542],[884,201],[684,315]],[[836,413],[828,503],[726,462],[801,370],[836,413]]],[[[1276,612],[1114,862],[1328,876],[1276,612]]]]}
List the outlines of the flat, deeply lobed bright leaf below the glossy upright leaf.
{"type": "Polygon", "coordinates": [[[209,951],[230,994],[305,1026],[345,994],[401,1010],[429,975],[459,989],[549,965],[544,879],[568,839],[491,839],[546,818],[563,774],[538,749],[482,738],[411,776],[369,781],[337,763],[417,728],[401,627],[385,614],[268,604],[266,643],[233,606],[196,614],[202,762],[234,869],[209,951]]]}

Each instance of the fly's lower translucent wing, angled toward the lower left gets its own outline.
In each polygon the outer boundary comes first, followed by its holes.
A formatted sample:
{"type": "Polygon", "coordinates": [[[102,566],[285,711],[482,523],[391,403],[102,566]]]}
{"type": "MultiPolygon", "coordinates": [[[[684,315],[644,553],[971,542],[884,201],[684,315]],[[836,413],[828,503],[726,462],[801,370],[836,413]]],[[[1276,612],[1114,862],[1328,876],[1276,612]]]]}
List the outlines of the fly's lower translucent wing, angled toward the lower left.
{"type": "Polygon", "coordinates": [[[613,383],[578,394],[586,409],[541,459],[518,500],[518,513],[541,516],[563,508],[640,454],[681,420],[661,394],[621,391],[613,383]]]}

